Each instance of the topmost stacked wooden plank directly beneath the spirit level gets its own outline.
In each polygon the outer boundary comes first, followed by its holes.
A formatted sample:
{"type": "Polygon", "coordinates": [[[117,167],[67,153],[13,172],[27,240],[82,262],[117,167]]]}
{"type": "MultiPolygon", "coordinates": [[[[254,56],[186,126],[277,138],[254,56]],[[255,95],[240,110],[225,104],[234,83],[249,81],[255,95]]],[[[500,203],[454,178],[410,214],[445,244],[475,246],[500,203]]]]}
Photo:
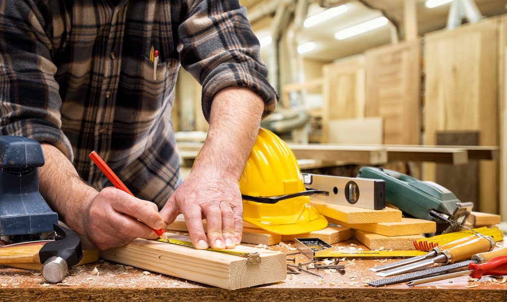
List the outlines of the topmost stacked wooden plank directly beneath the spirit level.
{"type": "Polygon", "coordinates": [[[393,208],[370,210],[360,207],[311,201],[311,204],[325,217],[348,224],[367,224],[402,221],[402,211],[393,208]]]}

